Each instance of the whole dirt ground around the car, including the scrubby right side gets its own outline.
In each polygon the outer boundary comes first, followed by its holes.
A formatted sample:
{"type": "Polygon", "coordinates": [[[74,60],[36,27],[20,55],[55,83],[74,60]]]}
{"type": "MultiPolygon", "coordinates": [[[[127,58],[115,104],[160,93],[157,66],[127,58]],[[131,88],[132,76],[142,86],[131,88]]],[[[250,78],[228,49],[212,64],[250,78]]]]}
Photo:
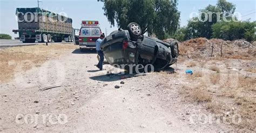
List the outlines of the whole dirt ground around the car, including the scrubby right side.
{"type": "Polygon", "coordinates": [[[0,132],[255,131],[255,60],[181,56],[165,71],[106,75],[113,68],[98,71],[95,51],[66,47],[0,83],[0,132]],[[186,75],[187,69],[194,74],[186,75]],[[40,90],[53,85],[60,87],[40,90]],[[234,114],[240,123],[231,122],[234,114]]]}

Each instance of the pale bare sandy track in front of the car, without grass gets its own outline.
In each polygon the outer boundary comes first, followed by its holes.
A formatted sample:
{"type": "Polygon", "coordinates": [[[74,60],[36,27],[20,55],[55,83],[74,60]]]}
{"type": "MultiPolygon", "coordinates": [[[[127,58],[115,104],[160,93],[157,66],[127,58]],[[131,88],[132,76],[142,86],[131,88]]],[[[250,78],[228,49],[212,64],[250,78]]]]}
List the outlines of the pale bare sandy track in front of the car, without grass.
{"type": "MultiPolygon", "coordinates": [[[[192,116],[211,114],[180,97],[190,83],[167,74],[172,69],[120,79],[106,75],[111,66],[97,71],[94,64],[94,52],[70,50],[0,84],[0,132],[234,131],[224,123],[191,122],[192,116]],[[61,87],[39,90],[52,85],[61,87]]],[[[173,68],[177,73],[186,69],[182,63],[173,68]]]]}

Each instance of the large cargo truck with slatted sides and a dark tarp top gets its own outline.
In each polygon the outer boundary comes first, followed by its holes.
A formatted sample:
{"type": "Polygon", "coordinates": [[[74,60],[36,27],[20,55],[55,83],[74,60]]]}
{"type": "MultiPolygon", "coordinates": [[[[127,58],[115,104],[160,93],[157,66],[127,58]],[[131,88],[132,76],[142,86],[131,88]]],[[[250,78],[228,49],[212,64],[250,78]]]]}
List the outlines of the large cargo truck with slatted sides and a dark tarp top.
{"type": "Polygon", "coordinates": [[[41,8],[17,8],[18,29],[23,43],[73,41],[72,19],[41,8]]]}

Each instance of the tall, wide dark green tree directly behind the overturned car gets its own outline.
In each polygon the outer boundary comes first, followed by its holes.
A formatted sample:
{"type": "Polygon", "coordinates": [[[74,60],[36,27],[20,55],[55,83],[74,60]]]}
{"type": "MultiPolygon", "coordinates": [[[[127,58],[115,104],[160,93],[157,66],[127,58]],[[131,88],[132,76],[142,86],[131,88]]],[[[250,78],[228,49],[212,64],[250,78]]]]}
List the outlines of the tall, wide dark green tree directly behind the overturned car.
{"type": "Polygon", "coordinates": [[[131,22],[138,23],[143,32],[164,39],[174,34],[179,26],[180,12],[177,0],[105,0],[104,15],[111,25],[126,29],[131,22]]]}

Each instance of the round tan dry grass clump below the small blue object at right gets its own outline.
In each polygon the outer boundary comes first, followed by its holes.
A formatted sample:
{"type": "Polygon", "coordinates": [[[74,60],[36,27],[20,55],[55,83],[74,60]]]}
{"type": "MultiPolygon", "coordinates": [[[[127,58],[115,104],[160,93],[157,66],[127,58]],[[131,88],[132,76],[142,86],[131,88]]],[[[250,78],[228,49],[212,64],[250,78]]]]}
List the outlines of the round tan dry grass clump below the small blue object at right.
{"type": "Polygon", "coordinates": [[[210,102],[212,100],[212,95],[204,87],[194,88],[190,94],[197,102],[210,102]]]}

